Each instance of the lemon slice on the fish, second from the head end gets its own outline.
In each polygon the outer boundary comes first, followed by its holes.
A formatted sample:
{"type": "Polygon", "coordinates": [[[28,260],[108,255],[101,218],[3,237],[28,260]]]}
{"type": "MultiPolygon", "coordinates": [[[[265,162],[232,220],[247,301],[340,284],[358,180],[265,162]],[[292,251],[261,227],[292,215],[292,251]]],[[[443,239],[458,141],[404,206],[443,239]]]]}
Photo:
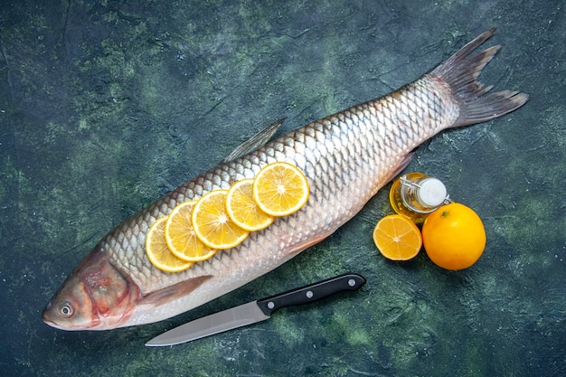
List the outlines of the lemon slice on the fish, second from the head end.
{"type": "Polygon", "coordinates": [[[199,262],[211,258],[216,249],[209,248],[194,234],[191,215],[194,201],[184,202],[169,213],[165,223],[165,241],[175,257],[189,262],[199,262]]]}

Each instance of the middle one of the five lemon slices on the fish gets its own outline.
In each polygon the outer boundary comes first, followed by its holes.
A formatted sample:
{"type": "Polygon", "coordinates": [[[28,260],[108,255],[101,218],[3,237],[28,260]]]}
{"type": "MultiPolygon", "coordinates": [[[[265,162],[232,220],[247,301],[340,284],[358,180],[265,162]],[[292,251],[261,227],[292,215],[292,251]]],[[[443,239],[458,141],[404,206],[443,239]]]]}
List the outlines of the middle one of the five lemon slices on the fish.
{"type": "Polygon", "coordinates": [[[194,204],[194,233],[212,249],[231,249],[241,244],[250,234],[231,221],[226,211],[228,190],[215,190],[205,194],[194,204]]]}

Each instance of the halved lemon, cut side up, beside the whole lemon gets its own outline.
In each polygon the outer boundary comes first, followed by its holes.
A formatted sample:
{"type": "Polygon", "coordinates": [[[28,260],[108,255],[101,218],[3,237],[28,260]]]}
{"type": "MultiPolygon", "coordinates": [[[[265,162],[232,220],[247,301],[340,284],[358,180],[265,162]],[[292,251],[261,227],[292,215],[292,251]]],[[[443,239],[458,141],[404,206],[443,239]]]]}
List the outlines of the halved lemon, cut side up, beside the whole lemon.
{"type": "Polygon", "coordinates": [[[385,216],[373,229],[373,242],[383,257],[391,260],[409,260],[419,254],[422,237],[419,228],[400,214],[385,216]]]}

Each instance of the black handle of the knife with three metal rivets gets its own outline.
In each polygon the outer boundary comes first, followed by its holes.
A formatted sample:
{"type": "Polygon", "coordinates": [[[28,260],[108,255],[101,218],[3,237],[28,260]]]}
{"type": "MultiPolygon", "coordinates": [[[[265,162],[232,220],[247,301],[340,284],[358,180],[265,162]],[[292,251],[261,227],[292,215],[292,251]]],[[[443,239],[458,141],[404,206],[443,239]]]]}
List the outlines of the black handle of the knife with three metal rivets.
{"type": "Polygon", "coordinates": [[[314,302],[344,290],[356,290],[362,287],[365,278],[358,274],[344,274],[328,278],[305,287],[289,290],[275,296],[258,300],[258,306],[266,316],[286,306],[295,306],[314,302]]]}

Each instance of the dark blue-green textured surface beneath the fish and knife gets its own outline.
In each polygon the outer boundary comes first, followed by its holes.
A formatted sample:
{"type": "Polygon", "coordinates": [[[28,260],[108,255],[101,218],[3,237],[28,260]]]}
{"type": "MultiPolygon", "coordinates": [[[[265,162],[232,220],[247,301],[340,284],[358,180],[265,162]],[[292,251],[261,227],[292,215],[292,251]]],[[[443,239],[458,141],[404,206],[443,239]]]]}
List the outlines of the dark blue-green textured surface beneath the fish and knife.
{"type": "Polygon", "coordinates": [[[72,376],[566,374],[566,23],[558,0],[5,1],[0,7],[0,369],[72,376]],[[491,27],[482,81],[524,108],[450,130],[407,171],[442,179],[487,248],[448,272],[382,259],[389,186],[283,267],[171,320],[42,324],[104,234],[278,118],[281,132],[415,80],[491,27]],[[164,349],[187,320],[345,271],[361,291],[164,349]]]}

